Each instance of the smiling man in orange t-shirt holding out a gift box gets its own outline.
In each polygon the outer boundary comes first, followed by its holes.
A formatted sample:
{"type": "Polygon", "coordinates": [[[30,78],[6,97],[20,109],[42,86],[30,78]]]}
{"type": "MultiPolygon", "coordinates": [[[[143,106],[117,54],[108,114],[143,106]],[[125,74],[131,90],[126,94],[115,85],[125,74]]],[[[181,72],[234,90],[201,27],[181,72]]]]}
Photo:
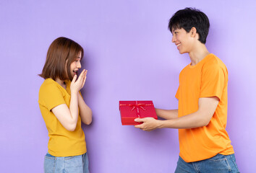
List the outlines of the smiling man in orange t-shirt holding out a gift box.
{"type": "Polygon", "coordinates": [[[186,8],[171,17],[168,29],[179,53],[191,63],[179,75],[178,110],[155,109],[158,117],[137,118],[142,130],[179,129],[179,161],[175,172],[239,172],[226,132],[228,71],[205,47],[210,23],[197,9],[186,8]]]}

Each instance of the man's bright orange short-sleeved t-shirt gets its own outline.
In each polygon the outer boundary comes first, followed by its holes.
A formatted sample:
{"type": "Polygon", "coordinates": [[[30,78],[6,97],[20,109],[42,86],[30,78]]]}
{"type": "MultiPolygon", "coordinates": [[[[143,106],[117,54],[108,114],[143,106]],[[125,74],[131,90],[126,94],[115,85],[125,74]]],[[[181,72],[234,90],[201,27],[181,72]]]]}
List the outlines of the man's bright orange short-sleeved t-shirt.
{"type": "Polygon", "coordinates": [[[216,154],[234,154],[226,132],[228,71],[215,55],[209,54],[195,66],[186,66],[179,74],[179,117],[198,110],[201,97],[220,101],[210,123],[201,128],[179,129],[179,156],[186,162],[209,159],[216,154]]]}

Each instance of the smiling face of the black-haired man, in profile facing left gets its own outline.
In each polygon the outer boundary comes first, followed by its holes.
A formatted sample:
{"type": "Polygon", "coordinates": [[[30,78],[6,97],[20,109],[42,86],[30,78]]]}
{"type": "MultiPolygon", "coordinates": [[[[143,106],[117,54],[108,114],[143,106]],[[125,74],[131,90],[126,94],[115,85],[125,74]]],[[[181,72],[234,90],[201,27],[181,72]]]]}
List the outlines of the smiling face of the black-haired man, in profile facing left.
{"type": "Polygon", "coordinates": [[[192,44],[191,44],[191,36],[190,32],[186,32],[183,28],[181,29],[172,29],[172,39],[171,42],[177,46],[179,53],[189,53],[192,44]]]}

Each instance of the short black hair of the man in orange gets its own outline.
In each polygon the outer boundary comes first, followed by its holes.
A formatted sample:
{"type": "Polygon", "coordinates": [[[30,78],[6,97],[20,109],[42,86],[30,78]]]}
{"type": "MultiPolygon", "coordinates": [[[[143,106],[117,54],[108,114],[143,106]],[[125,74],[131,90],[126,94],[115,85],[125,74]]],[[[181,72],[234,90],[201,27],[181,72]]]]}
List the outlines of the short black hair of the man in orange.
{"type": "Polygon", "coordinates": [[[200,10],[193,8],[181,9],[171,17],[168,24],[168,29],[171,32],[173,29],[182,28],[189,32],[192,27],[197,29],[199,41],[205,44],[210,22],[208,17],[203,12],[200,12],[200,10]]]}

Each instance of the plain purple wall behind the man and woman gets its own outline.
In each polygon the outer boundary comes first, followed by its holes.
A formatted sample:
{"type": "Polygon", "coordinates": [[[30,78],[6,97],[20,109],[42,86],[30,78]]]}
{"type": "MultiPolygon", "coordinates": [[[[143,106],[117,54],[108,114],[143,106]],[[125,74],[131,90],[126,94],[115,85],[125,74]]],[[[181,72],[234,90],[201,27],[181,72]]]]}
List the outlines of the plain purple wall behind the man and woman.
{"type": "Polygon", "coordinates": [[[227,130],[241,172],[256,169],[255,1],[0,1],[1,172],[43,172],[48,133],[38,107],[40,74],[51,42],[69,37],[85,48],[82,94],[93,110],[83,126],[90,172],[174,172],[178,131],[122,126],[119,100],[152,99],[175,109],[180,55],[168,19],[193,6],[210,19],[206,43],[229,69],[227,130]]]}

